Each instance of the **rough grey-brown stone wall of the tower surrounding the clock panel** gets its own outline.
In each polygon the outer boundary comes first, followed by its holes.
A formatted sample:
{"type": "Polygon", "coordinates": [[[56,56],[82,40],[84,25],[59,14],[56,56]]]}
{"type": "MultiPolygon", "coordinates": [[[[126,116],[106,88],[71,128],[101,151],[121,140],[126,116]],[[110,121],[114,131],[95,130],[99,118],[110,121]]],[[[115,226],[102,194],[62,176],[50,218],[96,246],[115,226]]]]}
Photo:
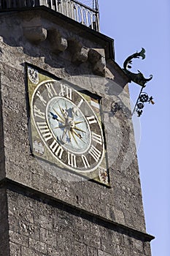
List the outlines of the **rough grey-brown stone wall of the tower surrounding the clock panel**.
{"type": "Polygon", "coordinates": [[[1,12],[0,20],[0,236],[10,241],[6,255],[150,255],[133,127],[127,111],[112,111],[114,85],[117,94],[128,94],[128,78],[112,59],[112,39],[43,7],[1,12]],[[31,155],[26,62],[102,97],[111,188],[58,178],[31,155]],[[127,154],[133,157],[123,168],[127,154]]]}

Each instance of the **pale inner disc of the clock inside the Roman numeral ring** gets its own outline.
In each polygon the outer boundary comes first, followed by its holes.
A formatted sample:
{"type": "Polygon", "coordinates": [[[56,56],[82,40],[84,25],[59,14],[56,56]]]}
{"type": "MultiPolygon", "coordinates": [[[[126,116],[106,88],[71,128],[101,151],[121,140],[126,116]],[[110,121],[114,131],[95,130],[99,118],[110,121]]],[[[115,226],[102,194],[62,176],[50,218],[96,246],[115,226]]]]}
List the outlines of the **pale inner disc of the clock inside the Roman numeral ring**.
{"type": "Polygon", "coordinates": [[[46,108],[47,123],[63,148],[82,154],[90,147],[90,127],[82,111],[69,99],[53,97],[46,108]]]}

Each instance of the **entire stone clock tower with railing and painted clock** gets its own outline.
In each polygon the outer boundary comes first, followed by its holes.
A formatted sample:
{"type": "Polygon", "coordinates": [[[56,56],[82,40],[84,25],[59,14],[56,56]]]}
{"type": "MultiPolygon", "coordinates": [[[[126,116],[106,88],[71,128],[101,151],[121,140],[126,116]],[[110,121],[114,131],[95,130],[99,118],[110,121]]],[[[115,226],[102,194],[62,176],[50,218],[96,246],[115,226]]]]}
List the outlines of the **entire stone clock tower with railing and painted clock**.
{"type": "Polygon", "coordinates": [[[0,256],[150,256],[128,94],[97,1],[0,1],[0,256]]]}

